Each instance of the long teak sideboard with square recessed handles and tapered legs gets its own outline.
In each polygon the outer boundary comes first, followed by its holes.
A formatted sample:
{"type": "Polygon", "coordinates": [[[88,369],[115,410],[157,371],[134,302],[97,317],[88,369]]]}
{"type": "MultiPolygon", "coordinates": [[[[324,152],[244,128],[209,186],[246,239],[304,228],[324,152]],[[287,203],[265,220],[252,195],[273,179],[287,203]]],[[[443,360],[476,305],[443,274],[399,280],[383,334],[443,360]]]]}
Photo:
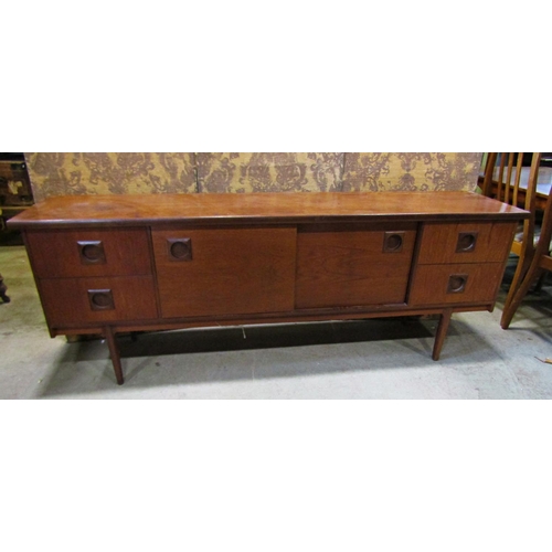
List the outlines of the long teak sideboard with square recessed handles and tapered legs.
{"type": "Polygon", "coordinates": [[[52,337],[492,310],[528,213],[468,192],[72,195],[11,219],[52,337]]]}

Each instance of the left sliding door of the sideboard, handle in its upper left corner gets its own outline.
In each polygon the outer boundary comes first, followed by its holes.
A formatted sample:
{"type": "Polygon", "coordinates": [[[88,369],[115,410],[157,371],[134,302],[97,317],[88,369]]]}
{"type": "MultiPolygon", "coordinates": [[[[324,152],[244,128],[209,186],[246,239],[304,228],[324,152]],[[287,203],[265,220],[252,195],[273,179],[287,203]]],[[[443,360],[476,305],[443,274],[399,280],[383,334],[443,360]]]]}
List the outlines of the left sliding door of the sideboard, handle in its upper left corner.
{"type": "Polygon", "coordinates": [[[295,227],[152,232],[164,318],[289,311],[295,227]]]}

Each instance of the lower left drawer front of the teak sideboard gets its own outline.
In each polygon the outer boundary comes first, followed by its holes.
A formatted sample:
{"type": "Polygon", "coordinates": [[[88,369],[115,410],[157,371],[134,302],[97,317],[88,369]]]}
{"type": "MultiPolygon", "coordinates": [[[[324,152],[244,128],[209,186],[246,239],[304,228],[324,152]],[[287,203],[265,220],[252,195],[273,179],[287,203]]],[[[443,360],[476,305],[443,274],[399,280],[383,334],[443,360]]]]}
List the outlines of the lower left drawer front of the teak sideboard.
{"type": "Polygon", "coordinates": [[[151,276],[54,278],[39,283],[51,326],[158,318],[151,276]]]}

